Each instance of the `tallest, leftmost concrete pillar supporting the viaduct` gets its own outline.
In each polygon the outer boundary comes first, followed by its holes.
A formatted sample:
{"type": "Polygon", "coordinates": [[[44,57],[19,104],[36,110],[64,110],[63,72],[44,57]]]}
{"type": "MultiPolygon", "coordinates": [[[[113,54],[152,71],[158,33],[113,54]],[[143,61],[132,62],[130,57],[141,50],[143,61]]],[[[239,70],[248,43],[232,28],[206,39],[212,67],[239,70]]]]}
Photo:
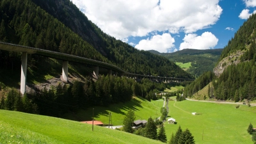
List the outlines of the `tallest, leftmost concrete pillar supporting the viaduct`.
{"type": "Polygon", "coordinates": [[[24,93],[26,92],[27,61],[28,61],[28,53],[22,52],[21,74],[20,74],[20,93],[22,95],[24,95],[24,93]]]}

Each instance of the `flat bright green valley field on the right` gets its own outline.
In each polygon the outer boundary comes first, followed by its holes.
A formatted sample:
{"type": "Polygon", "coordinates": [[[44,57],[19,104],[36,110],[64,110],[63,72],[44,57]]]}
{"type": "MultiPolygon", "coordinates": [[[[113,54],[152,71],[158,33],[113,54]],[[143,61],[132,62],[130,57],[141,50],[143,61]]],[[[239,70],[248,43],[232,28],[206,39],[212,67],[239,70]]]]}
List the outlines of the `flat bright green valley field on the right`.
{"type": "Polygon", "coordinates": [[[209,102],[169,102],[170,117],[177,124],[164,124],[168,140],[175,134],[179,125],[189,129],[196,143],[252,143],[247,128],[250,123],[256,126],[256,107],[236,104],[216,104],[209,102]],[[196,112],[200,115],[192,115],[196,112]],[[203,134],[204,133],[204,134],[203,134]]]}

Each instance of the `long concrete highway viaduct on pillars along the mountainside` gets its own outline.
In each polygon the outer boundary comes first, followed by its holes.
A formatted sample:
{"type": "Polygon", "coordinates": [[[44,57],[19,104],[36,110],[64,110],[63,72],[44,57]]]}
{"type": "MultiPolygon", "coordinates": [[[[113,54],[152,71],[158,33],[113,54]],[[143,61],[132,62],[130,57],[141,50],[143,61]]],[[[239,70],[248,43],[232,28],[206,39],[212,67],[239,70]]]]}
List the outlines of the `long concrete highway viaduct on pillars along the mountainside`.
{"type": "Polygon", "coordinates": [[[63,60],[61,80],[64,81],[65,83],[68,82],[68,61],[93,65],[94,66],[93,72],[97,77],[99,76],[99,67],[102,67],[109,70],[108,74],[112,74],[112,72],[114,71],[116,75],[118,74],[119,76],[126,76],[133,79],[142,79],[142,78],[157,79],[157,81],[165,81],[166,83],[170,81],[186,81],[186,80],[193,81],[194,80],[194,79],[181,79],[181,78],[173,78],[173,77],[159,77],[159,76],[146,76],[141,74],[132,74],[129,72],[125,72],[124,70],[116,67],[115,65],[110,65],[109,63],[104,63],[102,61],[82,58],[79,56],[64,54],[61,52],[37,49],[34,47],[8,44],[4,42],[0,42],[0,49],[4,51],[22,52],[22,58],[21,58],[22,63],[21,63],[21,74],[20,74],[20,92],[22,93],[22,95],[24,95],[24,93],[26,92],[26,74],[27,74],[28,54],[38,54],[40,56],[63,60]]]}

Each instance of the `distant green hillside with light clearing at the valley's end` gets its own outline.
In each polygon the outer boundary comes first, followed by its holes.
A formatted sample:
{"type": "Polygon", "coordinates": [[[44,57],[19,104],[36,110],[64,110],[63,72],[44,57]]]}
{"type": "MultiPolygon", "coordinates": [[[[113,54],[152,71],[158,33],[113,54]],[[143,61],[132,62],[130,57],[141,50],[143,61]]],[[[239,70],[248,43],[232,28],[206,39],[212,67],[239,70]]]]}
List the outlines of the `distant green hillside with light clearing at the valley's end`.
{"type": "Polygon", "coordinates": [[[161,53],[159,55],[168,58],[186,72],[198,77],[204,72],[213,70],[222,51],[223,49],[183,49],[182,51],[161,53]]]}

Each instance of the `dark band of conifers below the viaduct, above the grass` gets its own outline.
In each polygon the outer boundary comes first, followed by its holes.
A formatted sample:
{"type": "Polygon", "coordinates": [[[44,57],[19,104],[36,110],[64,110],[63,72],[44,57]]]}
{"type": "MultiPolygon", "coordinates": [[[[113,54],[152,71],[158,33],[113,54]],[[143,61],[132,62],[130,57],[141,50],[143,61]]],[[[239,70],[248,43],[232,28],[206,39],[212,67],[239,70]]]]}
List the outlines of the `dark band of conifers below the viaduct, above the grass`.
{"type": "MultiPolygon", "coordinates": [[[[86,77],[86,81],[74,81],[73,84],[58,84],[51,87],[27,93],[23,98],[17,90],[11,90],[7,95],[2,95],[1,109],[23,111],[14,109],[15,104],[26,104],[29,102],[31,111],[40,115],[61,116],[68,111],[77,111],[91,106],[109,106],[118,102],[127,102],[132,95],[141,95],[143,98],[158,99],[156,92],[161,92],[169,86],[168,84],[152,82],[142,79],[136,82],[127,77],[99,76],[97,81],[86,77]],[[15,102],[16,99],[26,99],[23,103],[15,102]],[[27,100],[28,99],[28,100],[27,100]],[[52,110],[54,109],[54,110],[52,110]]],[[[0,86],[1,88],[1,86],[0,86]]]]}

